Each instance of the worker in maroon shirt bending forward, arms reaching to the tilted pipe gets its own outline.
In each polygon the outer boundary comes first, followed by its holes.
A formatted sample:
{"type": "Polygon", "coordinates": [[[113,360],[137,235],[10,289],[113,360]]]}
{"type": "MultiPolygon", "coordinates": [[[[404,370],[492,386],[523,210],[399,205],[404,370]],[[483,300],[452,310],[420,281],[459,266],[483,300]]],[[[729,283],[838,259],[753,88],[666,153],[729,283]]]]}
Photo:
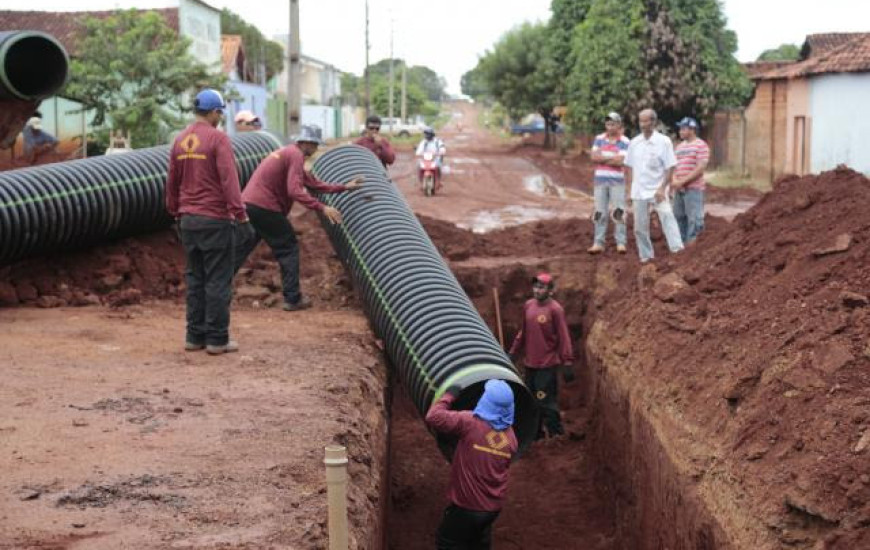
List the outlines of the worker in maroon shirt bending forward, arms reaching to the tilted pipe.
{"type": "Polygon", "coordinates": [[[299,242],[287,218],[293,203],[319,210],[332,223],[341,223],[341,212],[312,197],[306,187],[322,193],[340,193],[358,189],[363,180],[359,177],[346,185],[335,185],[324,183],[305,170],[305,159],[322,143],[320,135],[319,127],[302,126],[295,143],[263,159],[242,192],[254,231],[236,247],[235,270],[242,267],[260,239],[265,240],[281,266],[285,311],[311,307],[311,301],[299,289],[299,242]]]}

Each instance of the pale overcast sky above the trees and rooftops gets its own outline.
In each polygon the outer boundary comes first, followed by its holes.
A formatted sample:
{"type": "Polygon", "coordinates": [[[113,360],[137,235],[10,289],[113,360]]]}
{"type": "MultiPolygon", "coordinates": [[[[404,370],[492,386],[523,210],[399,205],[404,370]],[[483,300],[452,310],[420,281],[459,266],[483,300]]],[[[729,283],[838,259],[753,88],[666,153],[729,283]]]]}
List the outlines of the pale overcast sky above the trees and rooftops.
{"type": "MultiPolygon", "coordinates": [[[[10,4],[4,0],[2,4],[10,4]]],[[[286,34],[286,0],[207,0],[229,8],[267,36],[286,34]]],[[[153,8],[172,0],[28,0],[0,9],[70,11],[153,8]]],[[[361,74],[365,67],[365,0],[299,0],[302,52],[361,74]]],[[[870,31],[867,0],[724,0],[728,27],[737,32],[741,61],[767,48],[801,44],[817,32],[870,31]]],[[[550,0],[369,0],[372,63],[390,55],[390,26],[396,57],[427,65],[459,91],[462,73],[511,27],[546,21],[550,0]]]]}

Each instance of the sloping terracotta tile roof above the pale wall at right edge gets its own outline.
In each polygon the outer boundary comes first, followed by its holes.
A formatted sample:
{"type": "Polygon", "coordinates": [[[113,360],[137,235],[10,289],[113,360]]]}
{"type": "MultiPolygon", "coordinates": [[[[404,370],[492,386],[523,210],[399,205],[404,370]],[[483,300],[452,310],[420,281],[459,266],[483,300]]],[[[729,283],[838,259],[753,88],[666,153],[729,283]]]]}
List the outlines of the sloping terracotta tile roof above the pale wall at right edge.
{"type": "Polygon", "coordinates": [[[819,74],[870,72],[870,33],[861,33],[829,50],[814,51],[797,63],[773,69],[758,79],[799,78],[819,74]]]}

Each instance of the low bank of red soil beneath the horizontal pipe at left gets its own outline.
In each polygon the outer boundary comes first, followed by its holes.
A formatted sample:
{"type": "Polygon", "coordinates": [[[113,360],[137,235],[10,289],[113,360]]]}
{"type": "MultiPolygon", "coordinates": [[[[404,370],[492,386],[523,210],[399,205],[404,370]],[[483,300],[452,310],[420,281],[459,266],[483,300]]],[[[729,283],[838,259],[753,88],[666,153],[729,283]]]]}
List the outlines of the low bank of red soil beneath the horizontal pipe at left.
{"type": "MultiPolygon", "coordinates": [[[[303,292],[322,309],[353,305],[350,281],[317,217],[306,211],[294,216],[293,223],[300,241],[303,292]]],[[[278,264],[264,243],[242,267],[235,285],[237,302],[281,304],[278,264]]],[[[184,288],[184,251],[171,229],[0,268],[0,307],[123,306],[183,299],[184,288]]]]}

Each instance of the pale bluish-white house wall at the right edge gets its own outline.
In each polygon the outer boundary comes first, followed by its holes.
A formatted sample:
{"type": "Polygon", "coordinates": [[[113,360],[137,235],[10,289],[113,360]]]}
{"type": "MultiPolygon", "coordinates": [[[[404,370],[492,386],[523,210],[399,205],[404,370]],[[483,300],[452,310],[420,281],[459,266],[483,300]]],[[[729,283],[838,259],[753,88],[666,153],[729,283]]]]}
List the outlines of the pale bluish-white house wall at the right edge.
{"type": "Polygon", "coordinates": [[[816,76],[810,87],[812,171],[846,164],[870,173],[870,73],[816,76]]]}

